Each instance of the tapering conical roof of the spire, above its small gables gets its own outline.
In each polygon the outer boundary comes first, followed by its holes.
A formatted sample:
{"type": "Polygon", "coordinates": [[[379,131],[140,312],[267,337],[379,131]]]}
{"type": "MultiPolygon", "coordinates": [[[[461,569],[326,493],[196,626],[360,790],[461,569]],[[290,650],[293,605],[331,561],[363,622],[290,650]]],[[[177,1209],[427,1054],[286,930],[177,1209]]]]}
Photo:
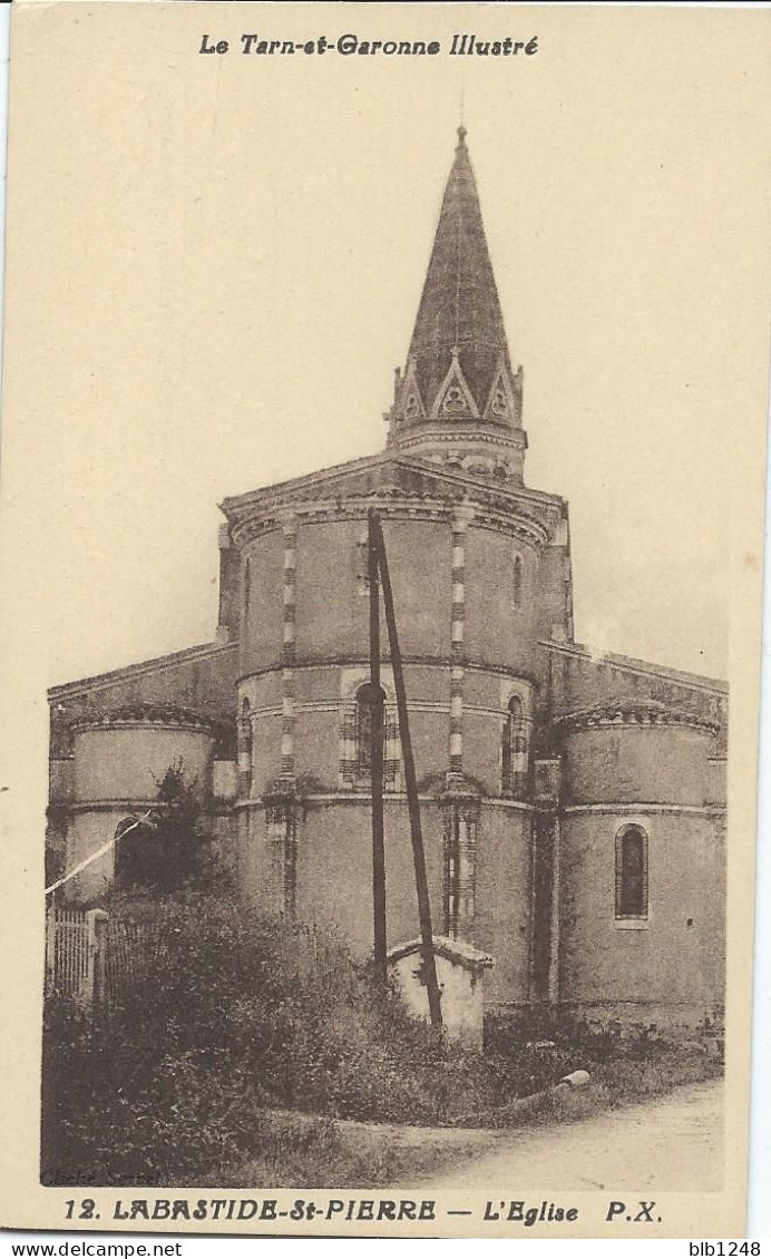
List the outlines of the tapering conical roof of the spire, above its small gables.
{"type": "Polygon", "coordinates": [[[457,136],[408,363],[430,410],[457,350],[481,414],[501,359],[511,364],[465,127],[457,136]]]}

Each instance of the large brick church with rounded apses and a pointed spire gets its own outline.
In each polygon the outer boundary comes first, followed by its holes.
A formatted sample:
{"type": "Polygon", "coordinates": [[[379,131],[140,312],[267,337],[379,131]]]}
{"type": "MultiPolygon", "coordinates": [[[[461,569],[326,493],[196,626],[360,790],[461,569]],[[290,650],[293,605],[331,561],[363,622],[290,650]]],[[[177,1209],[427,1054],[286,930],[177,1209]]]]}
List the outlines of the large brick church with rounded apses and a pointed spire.
{"type": "MultiPolygon", "coordinates": [[[[493,959],[488,1008],[719,1017],[728,687],[576,642],[568,505],[525,483],[523,397],[460,127],[386,449],[224,500],[212,642],[49,692],[64,870],[181,765],[246,904],[372,952],[377,509],[436,934],[493,959]]],[[[398,952],[418,917],[386,640],[382,684],[398,952]]],[[[98,905],[125,876],[118,840],[62,895],[98,905]]]]}

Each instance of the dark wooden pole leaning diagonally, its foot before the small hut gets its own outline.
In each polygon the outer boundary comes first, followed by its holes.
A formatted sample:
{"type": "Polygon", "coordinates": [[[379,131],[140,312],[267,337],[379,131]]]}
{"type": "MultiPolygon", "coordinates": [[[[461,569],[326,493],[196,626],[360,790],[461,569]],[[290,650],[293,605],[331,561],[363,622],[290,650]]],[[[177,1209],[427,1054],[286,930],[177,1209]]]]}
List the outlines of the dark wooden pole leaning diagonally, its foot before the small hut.
{"type": "Polygon", "coordinates": [[[402,652],[393,607],[393,590],[388,573],[388,556],[386,555],[386,543],[380,521],[375,520],[378,534],[378,559],[380,565],[380,580],[383,584],[383,606],[386,609],[386,624],[388,627],[388,643],[391,646],[391,663],[393,667],[393,685],[396,690],[397,710],[399,714],[399,738],[402,740],[402,757],[404,760],[404,786],[407,787],[407,807],[409,811],[409,836],[412,840],[412,857],[414,861],[414,883],[418,899],[418,917],[421,922],[421,939],[423,943],[423,974],[426,988],[428,990],[428,1011],[435,1027],[442,1025],[442,1002],[436,977],[436,957],[433,954],[433,929],[431,925],[431,900],[428,896],[428,876],[426,874],[426,852],[423,850],[423,832],[421,828],[421,808],[418,803],[417,779],[414,774],[414,757],[412,753],[412,739],[409,737],[409,716],[407,713],[407,692],[404,690],[404,671],[402,667],[402,652]]]}

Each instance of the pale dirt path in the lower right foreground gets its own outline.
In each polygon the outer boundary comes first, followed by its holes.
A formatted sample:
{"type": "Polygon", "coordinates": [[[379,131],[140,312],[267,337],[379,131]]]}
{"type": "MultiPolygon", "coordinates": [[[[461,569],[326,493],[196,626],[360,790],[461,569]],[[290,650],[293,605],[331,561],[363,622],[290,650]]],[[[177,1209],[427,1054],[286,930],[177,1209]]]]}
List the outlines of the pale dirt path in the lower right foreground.
{"type": "Polygon", "coordinates": [[[486,1148],[466,1158],[459,1149],[457,1162],[420,1187],[718,1190],[723,1088],[714,1080],[690,1084],[591,1119],[489,1136],[486,1148]]]}

